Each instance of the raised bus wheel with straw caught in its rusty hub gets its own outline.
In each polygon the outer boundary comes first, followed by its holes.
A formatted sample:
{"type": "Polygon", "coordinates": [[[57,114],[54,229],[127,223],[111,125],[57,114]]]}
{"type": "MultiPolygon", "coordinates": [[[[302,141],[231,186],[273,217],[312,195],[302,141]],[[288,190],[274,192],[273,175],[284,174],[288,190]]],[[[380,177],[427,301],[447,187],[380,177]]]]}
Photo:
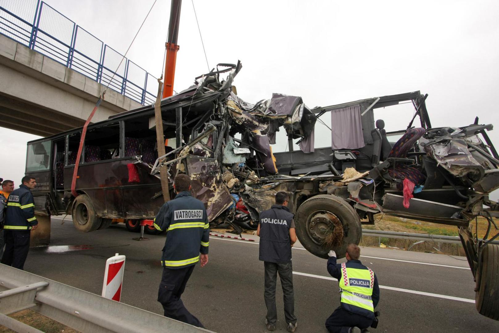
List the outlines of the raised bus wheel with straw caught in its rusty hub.
{"type": "Polygon", "coordinates": [[[359,244],[362,237],[359,215],[334,195],[321,194],[305,200],[296,211],[294,223],[301,245],[319,258],[329,258],[329,250],[334,250],[338,259],[343,258],[348,244],[359,244]]]}

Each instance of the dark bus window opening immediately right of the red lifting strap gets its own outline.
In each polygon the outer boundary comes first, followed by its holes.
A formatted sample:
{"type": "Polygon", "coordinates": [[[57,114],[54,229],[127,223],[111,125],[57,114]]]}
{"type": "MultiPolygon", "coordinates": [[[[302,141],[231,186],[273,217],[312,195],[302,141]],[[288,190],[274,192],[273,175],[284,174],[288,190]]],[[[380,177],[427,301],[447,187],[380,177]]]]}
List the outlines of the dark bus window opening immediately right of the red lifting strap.
{"type": "Polygon", "coordinates": [[[89,129],[85,136],[85,163],[118,158],[120,148],[119,123],[89,129]]]}

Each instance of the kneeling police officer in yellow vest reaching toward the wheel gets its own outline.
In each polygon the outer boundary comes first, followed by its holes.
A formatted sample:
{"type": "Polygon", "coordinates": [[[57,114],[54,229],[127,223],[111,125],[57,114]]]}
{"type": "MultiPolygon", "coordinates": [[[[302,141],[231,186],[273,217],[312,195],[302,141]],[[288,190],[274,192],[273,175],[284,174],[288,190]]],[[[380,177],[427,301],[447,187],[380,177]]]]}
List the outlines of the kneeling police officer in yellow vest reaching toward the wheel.
{"type": "Polygon", "coordinates": [[[326,320],[326,329],[331,333],[366,333],[379,302],[378,279],[360,262],[357,245],[349,244],[345,257],[346,263],[336,264],[336,253],[329,251],[327,271],[338,279],[341,305],[326,320]]]}

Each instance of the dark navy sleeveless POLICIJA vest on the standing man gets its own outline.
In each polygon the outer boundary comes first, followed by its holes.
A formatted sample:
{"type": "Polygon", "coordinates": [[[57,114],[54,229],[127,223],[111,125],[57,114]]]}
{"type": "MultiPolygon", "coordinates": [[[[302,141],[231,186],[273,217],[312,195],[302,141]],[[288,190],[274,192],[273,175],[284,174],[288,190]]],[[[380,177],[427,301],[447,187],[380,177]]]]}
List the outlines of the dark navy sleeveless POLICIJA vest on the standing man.
{"type": "Polygon", "coordinates": [[[293,214],[286,206],[273,205],[260,213],[259,260],[286,264],[291,262],[289,228],[293,214]]]}

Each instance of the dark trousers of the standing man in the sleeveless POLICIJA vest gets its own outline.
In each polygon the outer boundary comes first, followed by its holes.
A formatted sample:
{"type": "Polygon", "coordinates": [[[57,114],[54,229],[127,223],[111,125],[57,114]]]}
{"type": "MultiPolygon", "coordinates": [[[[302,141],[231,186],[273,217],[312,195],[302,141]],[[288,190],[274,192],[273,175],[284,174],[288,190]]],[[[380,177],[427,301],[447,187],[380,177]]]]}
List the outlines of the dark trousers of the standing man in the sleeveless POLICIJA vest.
{"type": "Polygon", "coordinates": [[[263,262],[265,268],[265,291],[263,298],[267,307],[267,321],[275,324],[277,321],[277,310],[275,308],[275,286],[277,284],[277,272],[281,280],[282,294],[284,299],[284,317],[286,324],[296,323],[294,316],[294,291],[293,291],[293,265],[276,264],[268,261],[263,262]]]}

